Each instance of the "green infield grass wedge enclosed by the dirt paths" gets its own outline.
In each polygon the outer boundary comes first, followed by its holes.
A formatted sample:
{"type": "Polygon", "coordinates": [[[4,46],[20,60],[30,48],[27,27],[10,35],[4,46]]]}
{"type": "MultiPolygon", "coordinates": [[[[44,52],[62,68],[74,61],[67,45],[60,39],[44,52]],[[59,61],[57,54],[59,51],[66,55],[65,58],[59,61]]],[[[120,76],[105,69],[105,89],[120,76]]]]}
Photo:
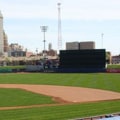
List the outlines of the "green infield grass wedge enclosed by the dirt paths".
{"type": "Polygon", "coordinates": [[[28,106],[55,103],[51,97],[20,89],[0,88],[0,107],[28,106]]]}

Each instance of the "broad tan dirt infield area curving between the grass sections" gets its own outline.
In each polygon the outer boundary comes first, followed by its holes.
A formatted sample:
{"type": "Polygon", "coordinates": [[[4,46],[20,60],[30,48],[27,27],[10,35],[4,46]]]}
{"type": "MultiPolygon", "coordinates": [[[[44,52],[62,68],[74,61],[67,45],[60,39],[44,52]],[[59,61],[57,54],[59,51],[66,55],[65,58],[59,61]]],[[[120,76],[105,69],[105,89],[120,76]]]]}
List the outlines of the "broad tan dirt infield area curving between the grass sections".
{"type": "Polygon", "coordinates": [[[70,103],[93,102],[120,99],[120,93],[81,87],[53,85],[0,84],[0,88],[19,88],[38,94],[52,96],[55,99],[70,103]]]}

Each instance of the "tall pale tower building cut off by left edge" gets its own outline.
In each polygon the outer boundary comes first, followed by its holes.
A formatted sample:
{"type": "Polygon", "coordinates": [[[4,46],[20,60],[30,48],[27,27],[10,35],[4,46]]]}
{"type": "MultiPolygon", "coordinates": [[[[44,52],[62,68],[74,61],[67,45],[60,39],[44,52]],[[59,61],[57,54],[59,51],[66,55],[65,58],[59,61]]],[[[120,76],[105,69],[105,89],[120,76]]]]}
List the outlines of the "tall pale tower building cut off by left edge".
{"type": "Polygon", "coordinates": [[[3,16],[0,11],[0,56],[4,54],[4,40],[3,40],[3,16]]]}

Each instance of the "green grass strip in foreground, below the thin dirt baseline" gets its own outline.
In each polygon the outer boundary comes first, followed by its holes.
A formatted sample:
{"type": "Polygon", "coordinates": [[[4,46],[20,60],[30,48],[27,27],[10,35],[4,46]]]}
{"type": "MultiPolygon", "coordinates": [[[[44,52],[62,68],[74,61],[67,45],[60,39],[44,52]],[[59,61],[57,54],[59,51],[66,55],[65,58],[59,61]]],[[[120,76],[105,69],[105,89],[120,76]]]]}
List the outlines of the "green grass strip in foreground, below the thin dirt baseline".
{"type": "Polygon", "coordinates": [[[0,111],[1,120],[67,120],[119,112],[120,101],[0,111]]]}

